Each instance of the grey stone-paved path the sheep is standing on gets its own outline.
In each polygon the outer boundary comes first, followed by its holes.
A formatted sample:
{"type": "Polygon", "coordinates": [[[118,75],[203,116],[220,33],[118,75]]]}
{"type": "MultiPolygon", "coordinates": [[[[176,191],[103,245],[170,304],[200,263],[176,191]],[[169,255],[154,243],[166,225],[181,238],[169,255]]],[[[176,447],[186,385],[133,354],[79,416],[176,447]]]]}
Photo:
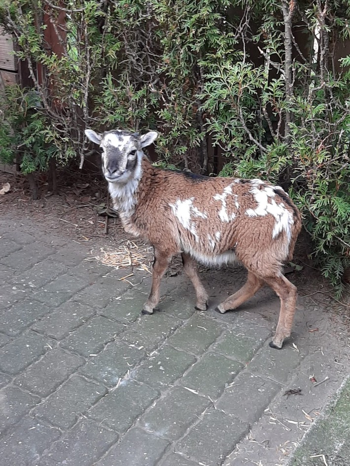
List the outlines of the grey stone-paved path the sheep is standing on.
{"type": "Polygon", "coordinates": [[[206,312],[186,277],[166,277],[160,311],[144,316],[149,276],[133,286],[87,257],[0,217],[0,466],[286,465],[349,373],[340,318],[299,299],[276,350],[269,289],[213,311],[240,268],[202,273],[206,312]]]}

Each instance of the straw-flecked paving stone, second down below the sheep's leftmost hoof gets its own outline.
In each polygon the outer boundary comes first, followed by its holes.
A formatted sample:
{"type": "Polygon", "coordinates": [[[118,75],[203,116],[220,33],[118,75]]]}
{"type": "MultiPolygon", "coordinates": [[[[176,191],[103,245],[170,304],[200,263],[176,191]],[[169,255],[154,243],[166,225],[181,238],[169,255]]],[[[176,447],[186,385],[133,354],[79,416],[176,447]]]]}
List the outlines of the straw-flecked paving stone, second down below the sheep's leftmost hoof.
{"type": "Polygon", "coordinates": [[[196,358],[191,354],[163,345],[142,361],[140,367],[131,371],[130,376],[160,389],[182,377],[195,362],[196,358]]]}

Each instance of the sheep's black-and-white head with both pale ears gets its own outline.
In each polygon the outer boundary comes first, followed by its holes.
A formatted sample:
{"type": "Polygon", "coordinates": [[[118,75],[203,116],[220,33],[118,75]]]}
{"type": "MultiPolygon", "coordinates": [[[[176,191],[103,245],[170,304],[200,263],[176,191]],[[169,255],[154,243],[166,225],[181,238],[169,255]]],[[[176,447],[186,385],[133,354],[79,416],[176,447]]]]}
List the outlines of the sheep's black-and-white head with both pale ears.
{"type": "Polygon", "coordinates": [[[85,129],[85,134],[102,149],[102,170],[109,183],[126,183],[140,163],[142,149],[152,144],[158,136],[155,131],[141,136],[119,129],[102,134],[85,129]]]}

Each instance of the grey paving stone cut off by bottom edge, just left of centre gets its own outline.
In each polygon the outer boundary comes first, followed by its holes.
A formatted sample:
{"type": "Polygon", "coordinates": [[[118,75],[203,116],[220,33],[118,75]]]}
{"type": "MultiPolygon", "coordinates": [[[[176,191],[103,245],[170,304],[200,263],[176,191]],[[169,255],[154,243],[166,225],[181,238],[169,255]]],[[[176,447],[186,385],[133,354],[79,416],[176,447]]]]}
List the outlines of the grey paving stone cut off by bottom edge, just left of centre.
{"type": "Polygon", "coordinates": [[[169,442],[135,428],[113,445],[96,466],[154,466],[169,442]]]}

